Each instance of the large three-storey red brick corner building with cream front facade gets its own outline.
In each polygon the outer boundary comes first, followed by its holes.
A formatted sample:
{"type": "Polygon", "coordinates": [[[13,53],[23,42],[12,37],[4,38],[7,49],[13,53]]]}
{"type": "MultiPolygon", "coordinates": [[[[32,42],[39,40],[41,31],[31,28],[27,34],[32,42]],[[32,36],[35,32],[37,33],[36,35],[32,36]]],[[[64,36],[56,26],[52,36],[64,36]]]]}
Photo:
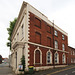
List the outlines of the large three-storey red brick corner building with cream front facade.
{"type": "Polygon", "coordinates": [[[23,54],[26,70],[28,66],[40,70],[67,65],[68,34],[26,2],[22,4],[11,41],[11,66],[16,73],[23,54]]]}

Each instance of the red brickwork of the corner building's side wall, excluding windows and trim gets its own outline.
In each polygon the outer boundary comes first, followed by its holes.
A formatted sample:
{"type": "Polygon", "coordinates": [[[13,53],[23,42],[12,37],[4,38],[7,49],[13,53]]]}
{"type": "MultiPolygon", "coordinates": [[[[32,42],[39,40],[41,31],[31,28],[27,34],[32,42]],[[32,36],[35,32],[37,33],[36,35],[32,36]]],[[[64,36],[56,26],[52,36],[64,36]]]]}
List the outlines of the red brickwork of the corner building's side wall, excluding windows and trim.
{"type": "MultiPolygon", "coordinates": [[[[45,21],[43,21],[42,19],[40,19],[39,17],[37,17],[36,15],[30,13],[30,30],[29,30],[29,35],[30,35],[30,42],[33,42],[33,43],[36,43],[36,38],[35,38],[35,33],[38,32],[41,34],[41,45],[44,45],[44,46],[48,46],[48,40],[47,40],[47,37],[51,38],[51,47],[53,48],[53,27],[50,25],[50,29],[47,27],[47,24],[45,21]],[[35,18],[39,19],[39,21],[35,20],[35,18]],[[37,21],[37,22],[36,22],[37,21]],[[41,25],[38,25],[38,24],[41,24],[41,25]],[[48,28],[48,30],[47,30],[48,28]],[[50,30],[50,32],[48,32],[50,30]]],[[[58,30],[57,30],[58,31],[58,30]]],[[[54,36],[54,40],[57,40],[58,41],[58,49],[62,50],[62,43],[65,44],[65,50],[67,51],[68,49],[68,41],[67,41],[67,36],[65,35],[65,40],[62,40],[62,33],[60,31],[58,31],[58,36],[54,36]]],[[[37,40],[39,41],[39,40],[37,40]]],[[[33,45],[30,45],[30,65],[34,65],[34,50],[37,48],[37,46],[33,46],[33,45]]],[[[40,50],[42,51],[42,62],[43,64],[42,65],[47,65],[46,64],[46,52],[49,50],[49,49],[46,49],[46,48],[42,48],[40,47],[40,50]]],[[[52,50],[51,50],[52,51],[52,50]]],[[[60,64],[62,64],[62,53],[59,52],[59,61],[60,61],[60,64]]]]}

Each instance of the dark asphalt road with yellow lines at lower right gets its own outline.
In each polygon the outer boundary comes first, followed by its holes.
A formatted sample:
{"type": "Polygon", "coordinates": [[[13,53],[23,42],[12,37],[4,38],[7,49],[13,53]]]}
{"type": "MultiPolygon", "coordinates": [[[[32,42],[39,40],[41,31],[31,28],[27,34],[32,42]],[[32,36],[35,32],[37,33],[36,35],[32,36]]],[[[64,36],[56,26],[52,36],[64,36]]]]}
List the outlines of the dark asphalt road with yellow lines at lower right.
{"type": "Polygon", "coordinates": [[[47,75],[75,75],[75,66],[55,71],[47,75]]]}

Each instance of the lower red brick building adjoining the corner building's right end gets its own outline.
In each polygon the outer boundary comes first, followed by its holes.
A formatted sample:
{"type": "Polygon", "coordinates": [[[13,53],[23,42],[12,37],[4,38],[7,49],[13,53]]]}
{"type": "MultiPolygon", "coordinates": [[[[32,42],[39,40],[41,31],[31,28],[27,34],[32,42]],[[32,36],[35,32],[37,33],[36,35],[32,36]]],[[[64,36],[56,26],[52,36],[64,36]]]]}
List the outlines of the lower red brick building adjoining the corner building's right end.
{"type": "Polygon", "coordinates": [[[75,64],[75,48],[68,46],[68,64],[75,64]]]}

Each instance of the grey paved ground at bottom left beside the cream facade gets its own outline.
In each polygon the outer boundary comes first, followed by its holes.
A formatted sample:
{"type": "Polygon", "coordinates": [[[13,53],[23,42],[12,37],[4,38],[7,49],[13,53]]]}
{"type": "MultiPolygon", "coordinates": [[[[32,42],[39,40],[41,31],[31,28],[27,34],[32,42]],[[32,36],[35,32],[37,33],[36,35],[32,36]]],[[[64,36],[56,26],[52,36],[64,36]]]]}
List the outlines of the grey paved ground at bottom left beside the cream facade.
{"type": "Polygon", "coordinates": [[[0,64],[0,75],[15,75],[8,63],[0,64]]]}

